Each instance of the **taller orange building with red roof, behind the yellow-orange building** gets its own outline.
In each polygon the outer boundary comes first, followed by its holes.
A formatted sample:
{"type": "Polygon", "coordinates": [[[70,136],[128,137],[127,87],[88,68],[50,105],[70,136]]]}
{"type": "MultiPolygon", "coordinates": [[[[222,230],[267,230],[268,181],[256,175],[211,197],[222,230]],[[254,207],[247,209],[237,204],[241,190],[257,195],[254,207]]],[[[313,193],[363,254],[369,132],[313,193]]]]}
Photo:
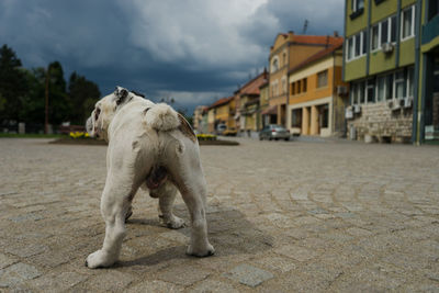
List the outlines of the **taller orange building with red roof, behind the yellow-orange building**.
{"type": "Polygon", "coordinates": [[[342,37],[295,35],[293,32],[278,34],[273,46],[270,47],[270,108],[264,111],[267,115],[274,115],[278,124],[285,125],[286,105],[289,104],[289,71],[301,64],[304,59],[318,53],[327,46],[340,42],[342,37]]]}

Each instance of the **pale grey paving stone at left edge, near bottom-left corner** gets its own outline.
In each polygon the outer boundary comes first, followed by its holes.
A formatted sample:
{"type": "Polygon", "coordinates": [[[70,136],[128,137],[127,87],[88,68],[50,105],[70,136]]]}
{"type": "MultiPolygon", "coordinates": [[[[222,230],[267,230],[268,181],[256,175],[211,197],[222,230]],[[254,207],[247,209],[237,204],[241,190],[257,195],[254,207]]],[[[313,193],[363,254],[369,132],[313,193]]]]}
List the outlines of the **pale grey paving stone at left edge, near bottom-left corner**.
{"type": "Polygon", "coordinates": [[[29,266],[23,262],[12,264],[5,269],[0,270],[0,289],[13,288],[26,280],[32,280],[40,277],[40,272],[35,267],[29,266]]]}

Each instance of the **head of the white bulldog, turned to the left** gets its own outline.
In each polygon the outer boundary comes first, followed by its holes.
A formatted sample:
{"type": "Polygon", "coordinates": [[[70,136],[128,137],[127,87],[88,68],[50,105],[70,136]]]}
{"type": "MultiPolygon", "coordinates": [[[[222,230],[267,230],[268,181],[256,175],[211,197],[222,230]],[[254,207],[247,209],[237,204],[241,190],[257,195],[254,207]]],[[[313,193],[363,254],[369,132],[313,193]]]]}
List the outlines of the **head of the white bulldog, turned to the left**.
{"type": "Polygon", "coordinates": [[[99,100],[91,116],[87,120],[86,128],[91,137],[108,140],[108,129],[117,109],[133,98],[128,90],[116,87],[115,91],[99,100]]]}

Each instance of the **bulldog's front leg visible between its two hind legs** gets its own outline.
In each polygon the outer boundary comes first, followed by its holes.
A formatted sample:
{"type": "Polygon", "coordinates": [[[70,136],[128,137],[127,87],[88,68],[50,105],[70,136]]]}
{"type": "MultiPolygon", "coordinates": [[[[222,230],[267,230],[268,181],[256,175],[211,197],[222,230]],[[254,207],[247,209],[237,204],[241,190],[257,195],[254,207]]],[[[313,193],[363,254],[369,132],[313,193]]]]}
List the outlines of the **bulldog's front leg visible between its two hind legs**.
{"type": "Polygon", "coordinates": [[[151,190],[150,195],[158,198],[158,216],[160,222],[168,228],[179,229],[184,227],[184,221],[172,212],[177,188],[169,181],[162,183],[158,189],[151,190]]]}

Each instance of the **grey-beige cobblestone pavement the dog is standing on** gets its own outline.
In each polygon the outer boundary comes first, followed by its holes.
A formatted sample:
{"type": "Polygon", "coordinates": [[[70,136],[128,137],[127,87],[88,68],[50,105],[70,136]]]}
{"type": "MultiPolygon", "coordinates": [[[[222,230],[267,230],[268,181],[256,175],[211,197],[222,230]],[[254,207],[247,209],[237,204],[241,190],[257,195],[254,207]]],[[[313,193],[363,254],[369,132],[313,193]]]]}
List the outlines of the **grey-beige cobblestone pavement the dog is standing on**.
{"type": "Polygon", "coordinates": [[[215,256],[138,192],[121,261],[90,270],[106,147],[1,138],[0,291],[439,292],[438,147],[240,143],[201,147],[215,256]]]}

